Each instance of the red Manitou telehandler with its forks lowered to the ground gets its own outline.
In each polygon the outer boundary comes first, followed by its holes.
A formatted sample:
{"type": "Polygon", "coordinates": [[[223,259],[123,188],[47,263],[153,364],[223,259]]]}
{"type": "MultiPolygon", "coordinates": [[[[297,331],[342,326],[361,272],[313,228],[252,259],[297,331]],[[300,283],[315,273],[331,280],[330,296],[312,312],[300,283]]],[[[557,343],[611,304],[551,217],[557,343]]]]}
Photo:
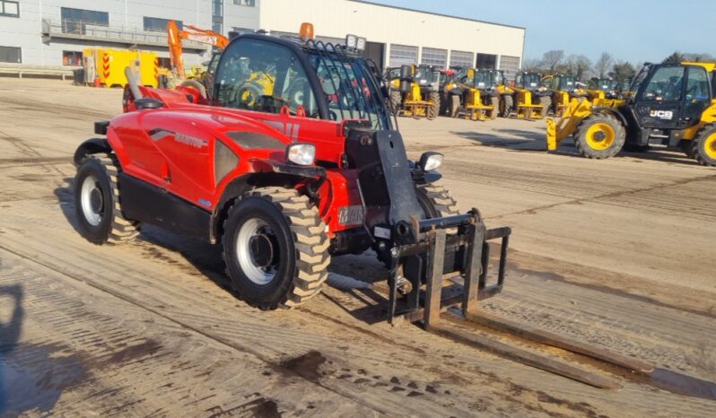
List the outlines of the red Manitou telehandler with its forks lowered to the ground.
{"type": "Polygon", "coordinates": [[[372,248],[389,267],[388,290],[380,292],[391,324],[422,321],[432,332],[570,379],[618,386],[552,354],[441,320],[460,306],[459,320],[651,370],[480,309],[479,300],[502,291],[510,228],[488,230],[477,209],[458,213],[436,185],[440,153],[408,160],[389,89],[362,57],[364,39],[349,35],[346,45],[334,45],[312,38],[304,24],[301,38],[232,39],[207,99],[190,87],[140,87],[127,69],[125,113],[96,123],[101,137],[74,154],[83,237],[117,243],[146,223],[222,243],[236,296],[259,309],[301,305],[320,292],[331,257],[372,248]],[[488,283],[491,240],[502,245],[494,245],[498,273],[488,283]]]}

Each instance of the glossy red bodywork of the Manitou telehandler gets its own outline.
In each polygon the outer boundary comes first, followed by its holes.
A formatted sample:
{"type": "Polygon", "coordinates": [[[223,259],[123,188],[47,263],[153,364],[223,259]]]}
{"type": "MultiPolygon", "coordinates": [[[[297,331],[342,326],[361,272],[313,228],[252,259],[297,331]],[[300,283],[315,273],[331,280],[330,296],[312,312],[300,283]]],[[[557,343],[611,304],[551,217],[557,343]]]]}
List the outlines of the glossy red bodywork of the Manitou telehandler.
{"type": "MultiPolygon", "coordinates": [[[[128,103],[128,113],[112,119],[108,140],[123,170],[206,210],[216,209],[231,180],[266,170],[267,165],[257,161],[285,162],[287,144],[315,144],[317,161],[328,162],[329,167],[340,165],[345,144],[342,123],[287,112],[272,114],[197,104],[205,100],[191,88],[140,89],[144,97],[162,100],[165,107],[135,111],[134,103],[128,103]],[[244,149],[226,135],[237,131],[271,136],[284,145],[244,149]],[[218,183],[214,179],[216,141],[240,158],[237,167],[218,183]]],[[[327,169],[327,179],[319,188],[319,213],[330,232],[360,226],[338,222],[340,207],[361,205],[356,176],[354,170],[327,169]]]]}

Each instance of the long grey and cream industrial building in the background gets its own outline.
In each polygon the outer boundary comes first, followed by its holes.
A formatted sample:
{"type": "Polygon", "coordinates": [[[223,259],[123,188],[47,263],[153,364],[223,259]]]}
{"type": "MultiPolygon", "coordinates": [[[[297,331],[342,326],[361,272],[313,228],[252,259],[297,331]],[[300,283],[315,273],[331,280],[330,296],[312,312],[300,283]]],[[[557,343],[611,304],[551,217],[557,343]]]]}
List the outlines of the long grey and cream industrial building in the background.
{"type": "MultiPolygon", "coordinates": [[[[224,35],[231,30],[296,34],[312,22],[319,39],[368,39],[380,66],[411,63],[520,67],[525,29],[360,0],[0,0],[0,63],[79,65],[83,48],[139,48],[169,57],[166,22],[224,35]]],[[[188,43],[185,62],[207,47],[188,43]]],[[[168,64],[168,60],[162,62],[168,64]]]]}

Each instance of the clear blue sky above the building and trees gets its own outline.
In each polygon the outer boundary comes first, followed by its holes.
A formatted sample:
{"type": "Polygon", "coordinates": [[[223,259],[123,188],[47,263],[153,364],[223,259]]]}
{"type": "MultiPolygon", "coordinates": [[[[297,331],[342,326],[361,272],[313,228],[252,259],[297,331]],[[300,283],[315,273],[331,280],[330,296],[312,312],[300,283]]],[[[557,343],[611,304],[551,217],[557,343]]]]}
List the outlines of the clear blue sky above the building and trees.
{"type": "Polygon", "coordinates": [[[716,0],[371,1],[524,27],[526,58],[549,49],[591,60],[607,51],[633,63],[661,61],[676,50],[716,56],[716,0]]]}

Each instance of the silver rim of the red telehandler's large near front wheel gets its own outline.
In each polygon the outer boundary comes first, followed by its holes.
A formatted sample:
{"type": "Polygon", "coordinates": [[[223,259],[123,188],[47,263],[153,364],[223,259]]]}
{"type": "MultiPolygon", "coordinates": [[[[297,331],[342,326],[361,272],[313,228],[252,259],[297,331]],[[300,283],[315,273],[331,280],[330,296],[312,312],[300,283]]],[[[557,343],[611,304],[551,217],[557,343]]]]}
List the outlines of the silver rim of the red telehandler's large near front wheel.
{"type": "Polygon", "coordinates": [[[265,285],[274,280],[280,266],[276,236],[264,220],[251,218],[236,235],[236,258],[252,283],[265,285]]]}

